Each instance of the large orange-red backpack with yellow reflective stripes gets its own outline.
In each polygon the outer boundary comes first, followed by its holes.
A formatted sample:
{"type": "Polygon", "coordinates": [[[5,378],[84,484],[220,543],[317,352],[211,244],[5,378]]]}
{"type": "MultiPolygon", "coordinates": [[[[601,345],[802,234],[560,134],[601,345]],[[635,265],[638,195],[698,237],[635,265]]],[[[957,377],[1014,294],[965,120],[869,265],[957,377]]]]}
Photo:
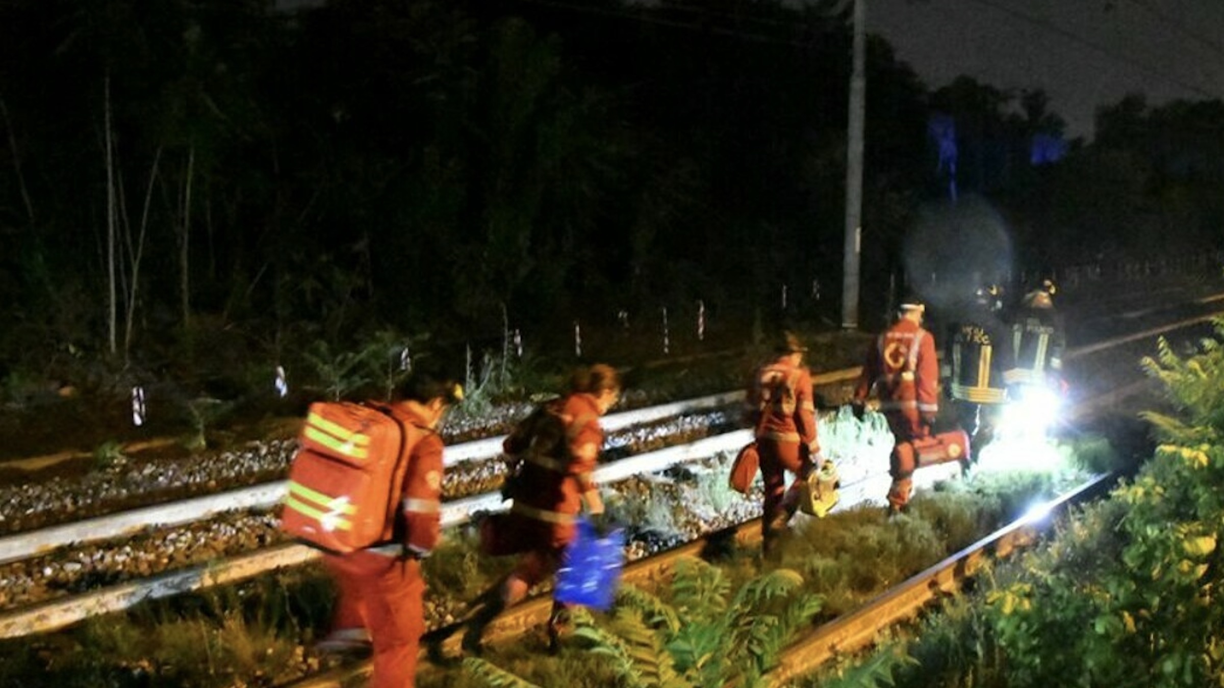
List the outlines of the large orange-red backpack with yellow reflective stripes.
{"type": "Polygon", "coordinates": [[[409,426],[378,406],[311,404],[289,466],[280,529],[341,555],[389,542],[415,441],[409,426]]]}

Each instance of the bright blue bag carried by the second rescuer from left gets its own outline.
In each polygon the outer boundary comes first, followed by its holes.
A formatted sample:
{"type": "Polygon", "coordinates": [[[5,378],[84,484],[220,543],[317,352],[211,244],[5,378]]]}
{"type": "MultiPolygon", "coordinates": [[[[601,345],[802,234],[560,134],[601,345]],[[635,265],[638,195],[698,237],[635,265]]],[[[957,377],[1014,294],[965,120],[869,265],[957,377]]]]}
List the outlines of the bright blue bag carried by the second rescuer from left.
{"type": "Polygon", "coordinates": [[[579,517],[578,536],[565,547],[557,569],[553,599],[558,602],[607,610],[616,597],[624,568],[624,529],[600,537],[586,517],[579,517]]]}

